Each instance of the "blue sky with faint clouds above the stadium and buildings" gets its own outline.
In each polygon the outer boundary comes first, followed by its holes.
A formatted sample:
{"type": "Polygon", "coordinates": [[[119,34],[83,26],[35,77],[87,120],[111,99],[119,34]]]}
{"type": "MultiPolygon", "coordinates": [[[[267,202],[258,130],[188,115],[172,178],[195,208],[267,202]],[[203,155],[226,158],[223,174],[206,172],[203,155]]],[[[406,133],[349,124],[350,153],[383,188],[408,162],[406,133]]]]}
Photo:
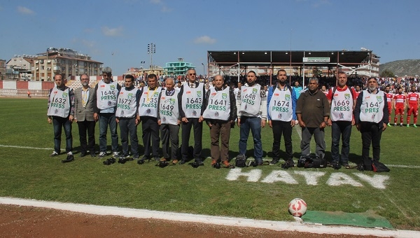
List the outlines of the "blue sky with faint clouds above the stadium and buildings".
{"type": "Polygon", "coordinates": [[[381,64],[420,59],[420,1],[102,0],[0,2],[0,59],[71,48],[113,75],[207,50],[373,50],[381,64]],[[146,61],[146,64],[141,64],[146,61]]]}

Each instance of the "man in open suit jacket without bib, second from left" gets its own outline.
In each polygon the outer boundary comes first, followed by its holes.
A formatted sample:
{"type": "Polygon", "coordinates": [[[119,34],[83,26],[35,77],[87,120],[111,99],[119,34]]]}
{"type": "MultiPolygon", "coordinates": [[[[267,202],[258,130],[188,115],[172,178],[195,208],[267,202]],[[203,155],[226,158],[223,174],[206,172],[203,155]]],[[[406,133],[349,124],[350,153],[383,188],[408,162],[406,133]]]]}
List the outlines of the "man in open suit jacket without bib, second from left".
{"type": "Polygon", "coordinates": [[[89,76],[82,74],[80,76],[82,87],[74,90],[75,118],[80,135],[80,157],[90,151],[90,156],[95,157],[94,152],[94,126],[96,121],[93,118],[93,89],[89,86],[89,76]],[[86,131],[89,144],[86,141],[86,131]]]}

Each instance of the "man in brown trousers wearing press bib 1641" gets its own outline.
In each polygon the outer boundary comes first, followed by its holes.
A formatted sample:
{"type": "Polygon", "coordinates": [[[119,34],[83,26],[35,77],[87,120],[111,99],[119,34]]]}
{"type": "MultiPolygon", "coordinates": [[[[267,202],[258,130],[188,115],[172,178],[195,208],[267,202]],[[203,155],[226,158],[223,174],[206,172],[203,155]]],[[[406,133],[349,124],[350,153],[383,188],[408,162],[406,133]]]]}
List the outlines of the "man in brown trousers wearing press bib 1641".
{"type": "Polygon", "coordinates": [[[203,118],[210,127],[211,138],[211,166],[216,165],[219,158],[224,167],[235,168],[229,164],[229,139],[231,125],[235,125],[237,107],[232,87],[224,86],[223,76],[216,75],[213,79],[214,87],[206,94],[203,118]],[[219,146],[219,137],[221,146],[219,146]]]}

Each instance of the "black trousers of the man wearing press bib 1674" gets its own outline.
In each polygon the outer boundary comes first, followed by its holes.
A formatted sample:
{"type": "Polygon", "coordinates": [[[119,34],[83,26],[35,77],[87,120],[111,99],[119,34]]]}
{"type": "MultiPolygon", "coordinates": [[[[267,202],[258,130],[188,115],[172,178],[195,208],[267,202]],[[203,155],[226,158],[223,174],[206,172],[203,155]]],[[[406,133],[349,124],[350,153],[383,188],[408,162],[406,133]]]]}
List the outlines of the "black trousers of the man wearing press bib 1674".
{"type": "Polygon", "coordinates": [[[280,158],[280,141],[281,134],[283,134],[284,147],[286,149],[286,158],[283,160],[287,161],[293,158],[293,148],[292,148],[292,126],[290,122],[283,122],[281,120],[272,120],[272,130],[273,130],[273,159],[279,160],[280,158]]]}

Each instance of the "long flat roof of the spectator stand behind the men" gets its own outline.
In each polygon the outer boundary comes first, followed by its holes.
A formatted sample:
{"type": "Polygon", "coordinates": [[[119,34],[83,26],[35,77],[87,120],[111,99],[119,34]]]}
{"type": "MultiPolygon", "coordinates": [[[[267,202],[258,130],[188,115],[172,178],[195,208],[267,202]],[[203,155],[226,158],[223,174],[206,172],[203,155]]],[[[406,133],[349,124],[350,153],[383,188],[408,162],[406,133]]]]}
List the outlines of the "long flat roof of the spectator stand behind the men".
{"type": "Polygon", "coordinates": [[[216,66],[346,66],[369,64],[372,51],[348,50],[230,50],[207,51],[210,64],[216,66]],[[306,62],[303,62],[303,59],[306,62]]]}

